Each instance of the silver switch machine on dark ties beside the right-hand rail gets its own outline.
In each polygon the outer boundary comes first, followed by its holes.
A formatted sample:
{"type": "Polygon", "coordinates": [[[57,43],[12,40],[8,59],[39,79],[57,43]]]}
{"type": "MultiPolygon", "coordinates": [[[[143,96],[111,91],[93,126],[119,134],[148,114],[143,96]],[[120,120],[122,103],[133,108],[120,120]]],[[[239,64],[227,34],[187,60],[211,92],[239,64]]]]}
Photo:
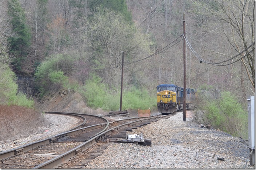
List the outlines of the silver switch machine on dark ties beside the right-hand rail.
{"type": "Polygon", "coordinates": [[[107,142],[117,142],[117,143],[135,143],[143,146],[151,146],[151,139],[145,139],[143,133],[140,134],[129,134],[124,140],[110,140],[107,139],[107,142]]]}

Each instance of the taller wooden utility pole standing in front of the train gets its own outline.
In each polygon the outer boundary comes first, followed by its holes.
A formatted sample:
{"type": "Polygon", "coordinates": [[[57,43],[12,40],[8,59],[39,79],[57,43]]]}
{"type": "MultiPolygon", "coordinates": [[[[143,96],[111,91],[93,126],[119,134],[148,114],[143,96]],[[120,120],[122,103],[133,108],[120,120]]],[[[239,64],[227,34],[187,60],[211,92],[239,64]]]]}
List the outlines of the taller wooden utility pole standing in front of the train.
{"type": "Polygon", "coordinates": [[[183,13],[183,121],[186,121],[186,30],[185,13],[183,13]]]}

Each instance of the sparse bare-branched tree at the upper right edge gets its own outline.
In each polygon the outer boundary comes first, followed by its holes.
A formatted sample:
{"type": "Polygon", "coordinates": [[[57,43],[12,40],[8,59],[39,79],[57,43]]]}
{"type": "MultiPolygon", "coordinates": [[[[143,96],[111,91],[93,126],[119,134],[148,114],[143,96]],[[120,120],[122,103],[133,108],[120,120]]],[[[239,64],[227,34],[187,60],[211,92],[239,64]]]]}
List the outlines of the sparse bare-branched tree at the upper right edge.
{"type": "MultiPolygon", "coordinates": [[[[250,0],[233,0],[224,1],[216,0],[216,5],[219,11],[212,11],[213,15],[219,17],[223,21],[223,32],[228,42],[232,45],[237,53],[247,49],[255,40],[255,24],[254,11],[255,6],[250,0]],[[227,32],[230,28],[232,32],[227,32]]],[[[247,72],[249,81],[252,84],[253,91],[255,90],[255,45],[252,45],[240,56],[241,61],[247,72]]],[[[243,66],[241,67],[243,69],[243,66]]],[[[243,70],[241,70],[241,86],[244,87],[243,70]]]]}

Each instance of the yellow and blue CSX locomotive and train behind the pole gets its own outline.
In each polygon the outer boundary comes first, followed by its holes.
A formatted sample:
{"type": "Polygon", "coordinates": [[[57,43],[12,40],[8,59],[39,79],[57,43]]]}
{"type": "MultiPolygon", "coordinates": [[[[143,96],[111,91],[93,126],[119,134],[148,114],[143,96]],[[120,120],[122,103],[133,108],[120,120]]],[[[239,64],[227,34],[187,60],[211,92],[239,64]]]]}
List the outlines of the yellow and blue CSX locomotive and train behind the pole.
{"type": "MultiPolygon", "coordinates": [[[[160,84],[157,88],[157,110],[162,114],[170,114],[183,109],[184,88],[174,84],[160,84]]],[[[196,90],[186,88],[186,108],[193,103],[196,90]]]]}

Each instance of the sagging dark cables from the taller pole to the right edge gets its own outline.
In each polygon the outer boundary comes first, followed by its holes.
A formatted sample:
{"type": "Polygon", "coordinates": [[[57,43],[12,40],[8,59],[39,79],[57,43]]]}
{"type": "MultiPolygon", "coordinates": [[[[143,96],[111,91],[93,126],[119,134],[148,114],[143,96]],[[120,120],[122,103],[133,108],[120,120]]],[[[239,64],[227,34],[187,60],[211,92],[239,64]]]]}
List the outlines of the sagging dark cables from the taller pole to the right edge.
{"type": "MultiPolygon", "coordinates": [[[[183,35],[184,37],[184,35],[183,35]]],[[[195,54],[195,56],[200,60],[200,62],[205,62],[207,64],[212,64],[212,65],[216,65],[216,66],[226,66],[226,65],[230,65],[230,64],[233,64],[239,60],[241,60],[242,58],[244,58],[245,56],[247,56],[249,53],[251,53],[255,48],[253,48],[250,52],[246,53],[243,57],[239,58],[238,60],[232,62],[232,63],[229,63],[229,64],[224,64],[224,65],[219,65],[221,63],[224,63],[224,62],[227,62],[227,61],[230,61],[232,59],[234,59],[235,57],[241,55],[243,52],[245,52],[246,50],[248,50],[252,45],[254,45],[255,43],[252,43],[250,46],[248,46],[245,50],[243,50],[242,52],[240,52],[239,54],[237,54],[236,56],[232,57],[232,58],[229,58],[228,60],[226,61],[222,61],[222,62],[216,62],[216,63],[212,63],[212,62],[208,62],[208,61],[205,61],[203,58],[201,58],[196,52],[195,50],[192,48],[192,46],[189,44],[188,40],[186,37],[184,37],[184,39],[186,40],[186,43],[188,44],[189,46],[189,49],[192,51],[193,54],[195,54]]]]}

